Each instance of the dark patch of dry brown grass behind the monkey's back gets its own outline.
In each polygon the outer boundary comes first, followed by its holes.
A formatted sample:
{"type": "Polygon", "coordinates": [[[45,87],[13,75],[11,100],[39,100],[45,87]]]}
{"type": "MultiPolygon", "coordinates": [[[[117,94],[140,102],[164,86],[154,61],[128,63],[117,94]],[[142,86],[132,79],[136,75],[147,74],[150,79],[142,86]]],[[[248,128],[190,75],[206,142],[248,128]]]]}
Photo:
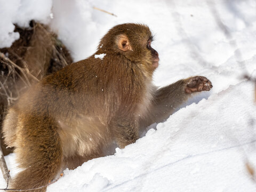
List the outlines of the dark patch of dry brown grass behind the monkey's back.
{"type": "MultiPolygon", "coordinates": [[[[20,38],[0,49],[0,126],[5,111],[31,85],[45,75],[73,62],[69,51],[49,27],[30,22],[29,28],[15,27],[20,38]]],[[[3,148],[6,155],[9,151],[3,148]],[[6,153],[7,152],[7,153],[6,153]]]]}

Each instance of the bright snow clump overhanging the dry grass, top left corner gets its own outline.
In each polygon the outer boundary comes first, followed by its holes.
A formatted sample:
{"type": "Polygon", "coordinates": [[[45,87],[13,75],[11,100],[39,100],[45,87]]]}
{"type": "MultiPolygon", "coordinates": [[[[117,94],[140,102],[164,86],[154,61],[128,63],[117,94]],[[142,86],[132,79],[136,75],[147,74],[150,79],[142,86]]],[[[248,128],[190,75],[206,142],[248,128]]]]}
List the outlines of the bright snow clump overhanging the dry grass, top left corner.
{"type": "Polygon", "coordinates": [[[0,0],[0,48],[11,46],[20,37],[13,32],[13,23],[21,27],[28,27],[32,19],[47,23],[51,7],[52,0],[0,0]]]}

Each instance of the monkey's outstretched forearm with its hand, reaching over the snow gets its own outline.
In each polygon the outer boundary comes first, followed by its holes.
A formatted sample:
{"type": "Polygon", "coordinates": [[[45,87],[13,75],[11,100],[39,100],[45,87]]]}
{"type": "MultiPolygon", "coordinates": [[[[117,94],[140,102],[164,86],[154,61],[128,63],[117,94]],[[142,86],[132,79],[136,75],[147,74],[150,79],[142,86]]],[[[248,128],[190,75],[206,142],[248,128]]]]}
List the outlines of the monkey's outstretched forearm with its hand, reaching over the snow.
{"type": "Polygon", "coordinates": [[[148,112],[140,118],[140,128],[162,122],[191,97],[193,92],[210,91],[212,83],[206,77],[196,76],[181,79],[156,90],[148,112]]]}

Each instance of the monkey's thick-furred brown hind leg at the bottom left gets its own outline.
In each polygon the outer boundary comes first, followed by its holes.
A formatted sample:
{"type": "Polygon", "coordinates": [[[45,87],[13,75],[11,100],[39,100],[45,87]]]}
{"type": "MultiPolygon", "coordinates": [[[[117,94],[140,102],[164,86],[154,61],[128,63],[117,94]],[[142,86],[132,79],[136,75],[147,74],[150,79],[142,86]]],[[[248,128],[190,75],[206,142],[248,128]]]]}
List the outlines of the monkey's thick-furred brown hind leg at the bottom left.
{"type": "Polygon", "coordinates": [[[61,169],[62,149],[57,126],[47,117],[26,118],[17,133],[17,160],[24,169],[11,181],[11,189],[44,192],[61,169]]]}

